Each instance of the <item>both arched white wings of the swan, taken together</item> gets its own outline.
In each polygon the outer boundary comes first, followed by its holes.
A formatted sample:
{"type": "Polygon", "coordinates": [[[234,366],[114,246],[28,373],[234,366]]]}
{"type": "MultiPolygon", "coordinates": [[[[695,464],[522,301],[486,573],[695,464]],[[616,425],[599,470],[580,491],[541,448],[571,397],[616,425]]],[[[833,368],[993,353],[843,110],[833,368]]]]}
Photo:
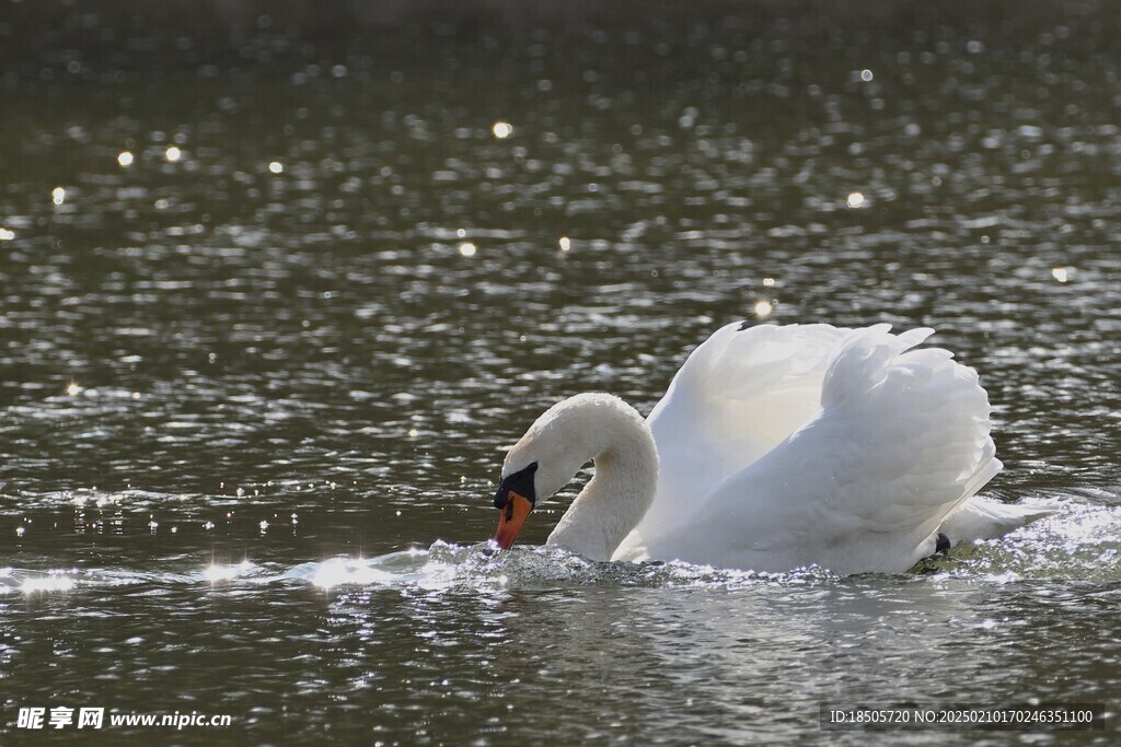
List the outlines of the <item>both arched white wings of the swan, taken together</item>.
{"type": "MultiPolygon", "coordinates": [[[[1001,468],[976,372],[947,351],[910,349],[929,329],[771,330],[757,333],[758,339],[771,343],[772,351],[794,352],[778,355],[777,383],[754,383],[766,371],[753,366],[767,356],[752,352],[748,362],[723,360],[732,348],[704,351],[708,343],[693,356],[704,365],[687,371],[691,357],[675,379],[668,402],[651,414],[659,451],[671,455],[663,461],[666,486],[617,557],[761,571],[814,563],[842,573],[906,570],[934,551],[942,522],[1001,468]],[[782,340],[785,335],[794,342],[782,340]],[[716,387],[716,381],[723,383],[716,387]],[[752,382],[747,391],[744,382],[752,382]],[[729,399],[717,390],[736,394],[723,411],[729,399]],[[752,398],[754,391],[762,393],[752,398]],[[772,407],[754,409],[758,399],[772,407]],[[688,407],[678,411],[683,404],[688,407]],[[710,413],[717,423],[715,439],[700,432],[705,422],[689,423],[687,412],[710,413]],[[725,420],[754,413],[762,413],[762,428],[749,429],[742,441],[726,438],[734,422],[725,420]],[[790,432],[768,449],[767,436],[782,427],[790,432]],[[682,491],[694,469],[715,459],[698,451],[712,447],[726,454],[729,443],[748,445],[747,460],[739,455],[742,466],[723,470],[715,484],[702,474],[695,484],[704,489],[682,491]],[[751,451],[759,448],[763,454],[751,451]],[[682,468],[689,474],[667,474],[682,468]]],[[[717,336],[710,342],[724,344],[717,336]]]]}

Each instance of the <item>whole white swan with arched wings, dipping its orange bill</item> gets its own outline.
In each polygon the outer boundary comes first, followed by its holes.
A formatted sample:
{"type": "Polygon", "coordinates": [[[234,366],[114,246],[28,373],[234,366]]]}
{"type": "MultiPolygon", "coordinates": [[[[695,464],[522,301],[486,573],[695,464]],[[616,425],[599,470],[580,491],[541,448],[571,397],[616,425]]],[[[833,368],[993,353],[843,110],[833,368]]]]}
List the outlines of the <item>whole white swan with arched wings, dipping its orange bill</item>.
{"type": "Polygon", "coordinates": [[[538,501],[595,475],[547,544],[592,560],[901,572],[1053,511],[976,492],[1001,469],[976,372],[890,325],[728,325],[648,420],[609,394],[552,407],[509,451],[509,548],[538,501]]]}

